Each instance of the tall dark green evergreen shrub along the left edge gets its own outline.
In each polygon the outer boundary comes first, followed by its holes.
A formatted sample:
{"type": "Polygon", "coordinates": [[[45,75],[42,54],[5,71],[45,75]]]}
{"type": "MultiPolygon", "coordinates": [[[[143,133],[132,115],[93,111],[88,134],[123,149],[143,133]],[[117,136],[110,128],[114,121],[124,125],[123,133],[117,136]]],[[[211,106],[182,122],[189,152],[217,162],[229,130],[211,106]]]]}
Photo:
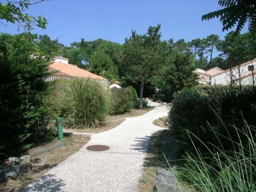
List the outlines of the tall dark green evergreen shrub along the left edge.
{"type": "Polygon", "coordinates": [[[48,65],[34,35],[0,35],[0,153],[51,138],[48,65]]]}

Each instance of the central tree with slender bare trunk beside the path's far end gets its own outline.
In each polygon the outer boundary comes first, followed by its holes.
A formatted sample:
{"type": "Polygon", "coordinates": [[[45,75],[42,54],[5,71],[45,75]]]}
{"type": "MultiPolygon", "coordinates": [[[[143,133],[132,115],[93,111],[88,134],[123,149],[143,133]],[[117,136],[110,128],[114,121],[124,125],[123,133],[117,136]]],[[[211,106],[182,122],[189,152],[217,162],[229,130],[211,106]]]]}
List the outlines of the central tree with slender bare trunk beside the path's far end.
{"type": "MultiPolygon", "coordinates": [[[[160,25],[150,26],[147,34],[139,35],[132,31],[132,36],[125,39],[122,68],[124,84],[134,82],[140,84],[140,99],[143,98],[143,89],[146,82],[156,73],[166,56],[166,42],[161,42],[160,25]]],[[[140,109],[142,103],[140,103],[140,109]]]]}

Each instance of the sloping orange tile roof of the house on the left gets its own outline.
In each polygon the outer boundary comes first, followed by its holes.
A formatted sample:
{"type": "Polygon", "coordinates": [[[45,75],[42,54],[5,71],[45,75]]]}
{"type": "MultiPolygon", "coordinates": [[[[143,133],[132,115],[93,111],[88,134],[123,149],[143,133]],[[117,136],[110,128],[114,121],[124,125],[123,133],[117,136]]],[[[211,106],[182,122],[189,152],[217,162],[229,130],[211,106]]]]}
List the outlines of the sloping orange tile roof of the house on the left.
{"type": "Polygon", "coordinates": [[[49,72],[56,71],[53,76],[58,77],[80,77],[80,78],[89,78],[89,79],[96,79],[96,80],[103,80],[108,81],[101,76],[95,75],[89,71],[80,69],[72,64],[61,63],[61,62],[53,62],[49,66],[49,72]]]}

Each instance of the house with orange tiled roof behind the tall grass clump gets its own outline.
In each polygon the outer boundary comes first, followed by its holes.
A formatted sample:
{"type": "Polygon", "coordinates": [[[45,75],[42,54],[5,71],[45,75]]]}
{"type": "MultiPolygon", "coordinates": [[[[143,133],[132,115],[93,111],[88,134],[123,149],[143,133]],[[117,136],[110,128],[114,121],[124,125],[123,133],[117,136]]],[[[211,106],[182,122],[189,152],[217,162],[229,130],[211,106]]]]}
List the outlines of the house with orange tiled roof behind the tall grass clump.
{"type": "Polygon", "coordinates": [[[49,65],[49,72],[53,74],[47,80],[55,79],[72,79],[72,78],[87,78],[98,81],[101,84],[108,84],[108,79],[95,75],[87,70],[78,68],[76,65],[70,64],[68,58],[54,57],[49,65]]]}

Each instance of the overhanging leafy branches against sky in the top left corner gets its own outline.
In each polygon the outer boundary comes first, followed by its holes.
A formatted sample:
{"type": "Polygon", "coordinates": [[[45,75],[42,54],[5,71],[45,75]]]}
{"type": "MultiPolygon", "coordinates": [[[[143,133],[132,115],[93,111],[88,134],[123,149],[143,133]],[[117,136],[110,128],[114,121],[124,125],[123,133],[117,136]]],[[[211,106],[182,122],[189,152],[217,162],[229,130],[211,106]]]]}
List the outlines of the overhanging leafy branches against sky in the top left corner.
{"type": "MultiPolygon", "coordinates": [[[[42,0],[45,1],[45,0],[42,0]]],[[[31,5],[40,3],[42,1],[30,3],[30,0],[22,0],[11,2],[7,0],[6,4],[0,3],[0,19],[6,20],[10,23],[18,23],[24,30],[32,30],[33,25],[37,25],[42,29],[46,29],[47,19],[39,15],[37,18],[25,13],[31,5]]],[[[0,24],[3,24],[0,22],[0,24]]]]}

